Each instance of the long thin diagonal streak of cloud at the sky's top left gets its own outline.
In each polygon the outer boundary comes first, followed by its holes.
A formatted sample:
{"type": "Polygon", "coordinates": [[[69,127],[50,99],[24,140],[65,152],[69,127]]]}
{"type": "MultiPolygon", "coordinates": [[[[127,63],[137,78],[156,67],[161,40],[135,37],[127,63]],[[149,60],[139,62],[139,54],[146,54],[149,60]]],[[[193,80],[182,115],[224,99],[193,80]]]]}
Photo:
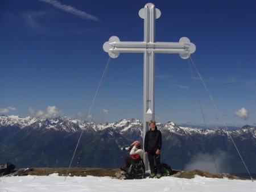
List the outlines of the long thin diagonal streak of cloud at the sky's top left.
{"type": "Polygon", "coordinates": [[[52,5],[53,7],[56,7],[57,9],[60,9],[65,12],[69,12],[73,15],[80,16],[81,18],[84,18],[84,19],[90,19],[90,20],[94,20],[94,21],[100,20],[96,16],[90,15],[84,11],[77,10],[75,7],[61,4],[59,1],[56,1],[56,0],[39,0],[39,1],[48,3],[49,5],[52,5]]]}

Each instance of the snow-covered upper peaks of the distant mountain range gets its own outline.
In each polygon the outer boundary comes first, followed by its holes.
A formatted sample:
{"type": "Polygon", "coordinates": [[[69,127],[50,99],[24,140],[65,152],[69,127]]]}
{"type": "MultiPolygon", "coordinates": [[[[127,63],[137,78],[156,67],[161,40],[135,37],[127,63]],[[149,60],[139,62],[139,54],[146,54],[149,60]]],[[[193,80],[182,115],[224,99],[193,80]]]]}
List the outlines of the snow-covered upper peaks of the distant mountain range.
{"type": "MultiPolygon", "coordinates": [[[[55,131],[66,131],[66,132],[77,132],[79,130],[86,130],[86,128],[93,128],[94,131],[102,131],[106,128],[112,127],[115,131],[119,133],[124,133],[133,128],[139,128],[142,136],[142,122],[138,119],[122,119],[119,122],[114,123],[102,123],[96,124],[93,122],[81,121],[79,119],[72,119],[69,117],[59,117],[51,119],[39,119],[27,116],[26,118],[20,118],[19,116],[10,115],[10,116],[0,116],[0,127],[32,127],[34,129],[46,128],[48,130],[55,131]]],[[[215,129],[200,129],[200,128],[191,128],[191,127],[181,127],[173,122],[168,123],[157,123],[156,126],[160,131],[170,131],[177,133],[179,135],[195,135],[195,134],[204,134],[209,135],[216,132],[229,133],[231,135],[241,135],[245,132],[250,132],[251,135],[256,138],[255,127],[245,126],[237,130],[228,131],[228,130],[215,130],[215,129]]]]}

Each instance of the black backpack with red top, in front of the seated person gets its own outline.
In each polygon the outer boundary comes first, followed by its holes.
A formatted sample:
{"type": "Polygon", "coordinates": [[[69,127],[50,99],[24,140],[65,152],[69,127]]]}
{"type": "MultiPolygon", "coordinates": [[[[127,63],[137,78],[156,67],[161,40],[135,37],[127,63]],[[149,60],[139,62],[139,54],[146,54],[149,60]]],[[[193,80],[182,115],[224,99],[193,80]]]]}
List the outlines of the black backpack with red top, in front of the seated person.
{"type": "Polygon", "coordinates": [[[139,154],[131,155],[131,165],[126,173],[127,180],[145,178],[145,165],[139,154]]]}

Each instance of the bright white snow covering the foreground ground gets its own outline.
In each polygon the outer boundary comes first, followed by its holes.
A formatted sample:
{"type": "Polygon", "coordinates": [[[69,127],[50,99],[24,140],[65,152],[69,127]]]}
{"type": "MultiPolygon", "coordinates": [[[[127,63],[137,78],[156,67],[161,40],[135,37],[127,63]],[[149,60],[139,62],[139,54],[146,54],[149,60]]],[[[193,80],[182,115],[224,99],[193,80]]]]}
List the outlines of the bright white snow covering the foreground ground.
{"type": "Polygon", "coordinates": [[[159,180],[117,180],[111,177],[65,177],[57,173],[50,176],[1,177],[0,191],[256,191],[256,182],[251,180],[228,180],[228,178],[193,179],[162,177],[159,180]]]}

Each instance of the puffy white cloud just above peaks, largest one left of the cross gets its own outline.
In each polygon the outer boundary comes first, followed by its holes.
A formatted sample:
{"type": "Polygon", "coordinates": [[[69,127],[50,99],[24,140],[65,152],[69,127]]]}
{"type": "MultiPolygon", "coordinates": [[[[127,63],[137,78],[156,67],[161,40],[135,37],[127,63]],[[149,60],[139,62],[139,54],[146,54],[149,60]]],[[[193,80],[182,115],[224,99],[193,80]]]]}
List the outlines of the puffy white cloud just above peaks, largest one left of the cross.
{"type": "Polygon", "coordinates": [[[60,111],[56,106],[48,106],[46,111],[38,110],[36,113],[30,107],[28,111],[30,112],[31,116],[36,116],[40,119],[53,118],[60,114],[60,111]]]}

